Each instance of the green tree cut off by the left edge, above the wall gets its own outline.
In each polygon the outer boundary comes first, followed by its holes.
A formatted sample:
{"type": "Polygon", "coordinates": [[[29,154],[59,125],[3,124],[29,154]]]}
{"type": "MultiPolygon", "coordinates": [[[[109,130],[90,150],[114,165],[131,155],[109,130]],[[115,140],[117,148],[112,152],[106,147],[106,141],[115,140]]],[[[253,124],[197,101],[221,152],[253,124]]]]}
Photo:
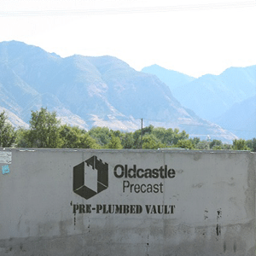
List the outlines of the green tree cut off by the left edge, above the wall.
{"type": "Polygon", "coordinates": [[[0,147],[11,147],[15,143],[15,138],[15,128],[8,123],[8,117],[3,111],[0,113],[0,147]]]}

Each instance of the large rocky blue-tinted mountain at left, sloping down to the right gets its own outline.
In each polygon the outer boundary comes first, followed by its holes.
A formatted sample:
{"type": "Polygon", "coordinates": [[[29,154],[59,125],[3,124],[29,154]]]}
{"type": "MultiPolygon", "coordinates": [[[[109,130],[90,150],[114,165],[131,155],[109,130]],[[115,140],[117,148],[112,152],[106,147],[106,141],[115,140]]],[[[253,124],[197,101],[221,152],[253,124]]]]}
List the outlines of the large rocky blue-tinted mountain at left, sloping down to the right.
{"type": "Polygon", "coordinates": [[[203,138],[235,138],[183,108],[156,76],[112,56],[61,58],[16,41],[0,43],[0,96],[0,106],[26,123],[31,110],[47,107],[84,129],[99,125],[132,131],[143,118],[144,125],[185,129],[203,138]]]}

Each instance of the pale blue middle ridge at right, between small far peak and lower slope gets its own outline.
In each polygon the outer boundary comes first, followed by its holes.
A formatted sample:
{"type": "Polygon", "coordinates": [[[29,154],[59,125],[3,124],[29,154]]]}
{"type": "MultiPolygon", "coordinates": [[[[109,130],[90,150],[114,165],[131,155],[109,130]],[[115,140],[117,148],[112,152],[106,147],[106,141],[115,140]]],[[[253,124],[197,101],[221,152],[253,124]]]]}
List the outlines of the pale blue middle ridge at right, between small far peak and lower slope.
{"type": "Polygon", "coordinates": [[[218,76],[207,74],[172,93],[183,106],[213,121],[235,103],[256,95],[256,66],[230,67],[218,76]]]}

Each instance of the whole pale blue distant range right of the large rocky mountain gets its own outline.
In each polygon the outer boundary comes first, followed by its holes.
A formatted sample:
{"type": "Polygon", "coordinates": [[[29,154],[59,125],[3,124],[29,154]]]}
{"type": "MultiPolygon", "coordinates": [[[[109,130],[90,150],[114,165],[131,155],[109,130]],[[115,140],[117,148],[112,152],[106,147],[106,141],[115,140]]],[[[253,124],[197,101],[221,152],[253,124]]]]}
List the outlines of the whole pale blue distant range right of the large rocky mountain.
{"type": "Polygon", "coordinates": [[[199,79],[185,75],[177,79],[176,72],[157,65],[144,67],[143,71],[165,81],[172,88],[173,96],[201,118],[230,129],[238,137],[256,137],[256,125],[253,126],[249,118],[245,120],[247,116],[256,119],[256,107],[251,98],[256,95],[256,66],[230,67],[220,75],[207,74],[199,79]],[[186,82],[186,79],[191,81],[186,82]],[[247,132],[246,124],[250,125],[250,131],[253,132],[247,132]]]}

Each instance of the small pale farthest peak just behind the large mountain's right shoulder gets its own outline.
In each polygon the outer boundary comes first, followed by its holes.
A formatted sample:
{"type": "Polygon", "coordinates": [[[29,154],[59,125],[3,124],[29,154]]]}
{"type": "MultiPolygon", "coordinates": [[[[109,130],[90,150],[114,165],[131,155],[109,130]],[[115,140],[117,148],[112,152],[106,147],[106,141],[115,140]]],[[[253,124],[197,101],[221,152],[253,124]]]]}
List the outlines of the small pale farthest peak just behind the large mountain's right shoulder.
{"type": "Polygon", "coordinates": [[[169,70],[156,64],[149,67],[143,67],[142,72],[156,75],[162,82],[169,86],[171,91],[195,80],[195,78],[186,74],[169,70]]]}

